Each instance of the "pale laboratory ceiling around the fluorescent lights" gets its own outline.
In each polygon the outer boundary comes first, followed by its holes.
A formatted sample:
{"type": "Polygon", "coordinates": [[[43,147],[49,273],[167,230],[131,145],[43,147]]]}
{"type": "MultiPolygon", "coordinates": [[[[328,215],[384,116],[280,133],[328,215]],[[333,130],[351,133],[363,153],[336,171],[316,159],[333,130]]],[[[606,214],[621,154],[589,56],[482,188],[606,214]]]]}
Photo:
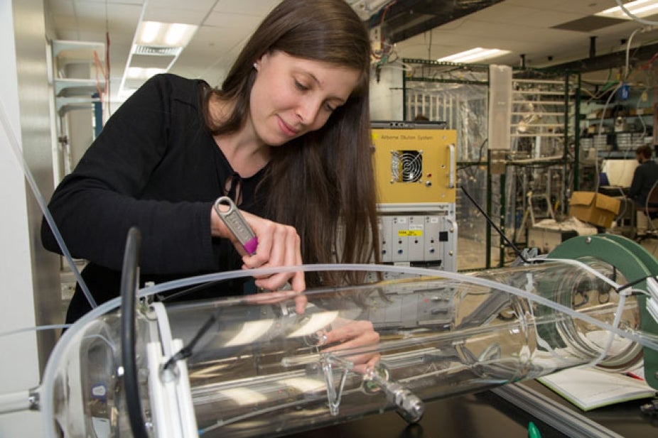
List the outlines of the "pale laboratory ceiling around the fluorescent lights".
{"type": "MultiPolygon", "coordinates": [[[[371,26],[384,23],[384,36],[394,40],[399,58],[436,59],[485,47],[511,51],[488,61],[491,63],[520,65],[523,59],[526,67],[548,67],[590,55],[623,52],[626,40],[640,28],[633,21],[611,19],[600,27],[601,23],[591,20],[593,13],[616,6],[615,0],[399,0],[387,14],[381,9],[387,1],[346,1],[359,9],[365,19],[370,16],[371,26]],[[368,4],[376,8],[372,13],[363,11],[368,4]],[[460,16],[459,8],[468,9],[468,14],[460,16]],[[431,20],[416,26],[428,16],[431,20]],[[425,30],[427,26],[436,27],[425,30]],[[417,34],[409,38],[408,29],[412,27],[417,34]]],[[[193,39],[169,71],[220,84],[249,35],[278,2],[45,0],[44,4],[50,39],[104,43],[107,35],[110,100],[117,102],[116,94],[140,20],[198,25],[193,39]]],[[[647,31],[634,35],[632,45],[649,46],[656,41],[658,31],[647,31]]]]}

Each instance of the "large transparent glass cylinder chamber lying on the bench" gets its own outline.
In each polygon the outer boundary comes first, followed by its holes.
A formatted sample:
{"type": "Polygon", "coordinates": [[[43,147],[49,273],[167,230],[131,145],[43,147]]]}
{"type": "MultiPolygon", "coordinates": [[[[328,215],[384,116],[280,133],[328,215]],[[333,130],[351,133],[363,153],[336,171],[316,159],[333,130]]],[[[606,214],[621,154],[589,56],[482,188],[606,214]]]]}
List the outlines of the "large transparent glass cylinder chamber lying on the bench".
{"type": "MultiPolygon", "coordinates": [[[[139,305],[149,434],[275,437],[384,410],[415,422],[427,400],[586,364],[620,371],[655,345],[637,298],[617,292],[627,280],[596,259],[470,275],[366,268],[360,285],[305,292],[303,314],[267,295],[139,305]]],[[[131,436],[120,339],[118,312],[65,334],[41,394],[53,436],[131,436]]]]}

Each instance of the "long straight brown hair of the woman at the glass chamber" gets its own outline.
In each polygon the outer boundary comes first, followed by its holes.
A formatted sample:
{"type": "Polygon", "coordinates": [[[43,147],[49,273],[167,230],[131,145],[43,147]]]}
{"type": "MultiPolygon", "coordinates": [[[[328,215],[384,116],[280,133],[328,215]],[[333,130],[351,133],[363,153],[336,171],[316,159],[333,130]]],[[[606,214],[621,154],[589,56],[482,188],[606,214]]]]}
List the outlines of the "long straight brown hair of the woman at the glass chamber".
{"type": "MultiPolygon", "coordinates": [[[[221,89],[207,97],[234,102],[232,114],[217,125],[206,111],[207,125],[213,134],[243,126],[256,77],[254,62],[274,50],[352,68],[361,78],[325,126],[271,148],[261,183],[269,190],[266,217],[297,229],[304,263],[379,262],[368,101],[370,40],[365,24],[344,0],[284,0],[276,6],[244,46],[221,89]]],[[[307,275],[307,283],[355,281],[352,275],[341,277],[307,275]]]]}

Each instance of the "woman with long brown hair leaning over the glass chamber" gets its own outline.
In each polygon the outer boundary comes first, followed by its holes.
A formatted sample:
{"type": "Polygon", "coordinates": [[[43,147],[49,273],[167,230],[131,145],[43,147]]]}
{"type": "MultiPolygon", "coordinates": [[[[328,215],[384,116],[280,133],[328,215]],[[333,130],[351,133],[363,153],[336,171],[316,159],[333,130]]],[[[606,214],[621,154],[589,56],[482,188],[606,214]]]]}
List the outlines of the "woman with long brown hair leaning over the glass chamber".
{"type": "MultiPolygon", "coordinates": [[[[173,75],[144,84],[49,206],[72,255],[89,261],[82,277],[95,300],[117,296],[131,226],[142,234],[144,282],[241,265],[377,261],[369,66],[367,31],[345,1],[284,0],[220,89],[173,75]],[[222,195],[257,234],[253,256],[239,258],[213,211],[222,195]]],[[[42,240],[60,251],[45,224],[42,240]]],[[[276,290],[288,281],[300,292],[341,279],[280,273],[255,284],[276,290]]],[[[188,298],[221,294],[236,291],[188,298]]],[[[67,321],[89,309],[78,286],[67,321]]]]}

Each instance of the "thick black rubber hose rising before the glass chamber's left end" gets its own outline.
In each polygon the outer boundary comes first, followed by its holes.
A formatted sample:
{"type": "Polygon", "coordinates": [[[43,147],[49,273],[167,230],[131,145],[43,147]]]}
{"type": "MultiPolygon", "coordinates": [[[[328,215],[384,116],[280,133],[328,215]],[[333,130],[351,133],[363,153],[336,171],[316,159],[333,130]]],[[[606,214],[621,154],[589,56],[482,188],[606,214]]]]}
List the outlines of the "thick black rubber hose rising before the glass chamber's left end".
{"type": "Polygon", "coordinates": [[[121,275],[121,356],[124,366],[124,393],[126,409],[133,437],[148,438],[139,398],[139,379],[137,377],[135,351],[135,300],[139,275],[139,252],[141,233],[136,227],[128,231],[124,264],[121,275]]]}

